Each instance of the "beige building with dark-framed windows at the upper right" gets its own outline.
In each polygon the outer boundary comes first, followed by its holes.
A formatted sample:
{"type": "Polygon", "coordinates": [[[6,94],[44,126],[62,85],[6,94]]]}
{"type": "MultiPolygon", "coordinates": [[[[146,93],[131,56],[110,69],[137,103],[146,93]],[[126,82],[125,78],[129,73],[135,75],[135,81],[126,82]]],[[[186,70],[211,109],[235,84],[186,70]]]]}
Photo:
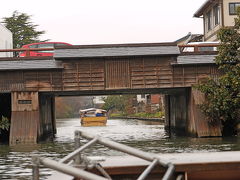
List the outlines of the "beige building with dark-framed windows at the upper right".
{"type": "Polygon", "coordinates": [[[204,41],[217,41],[221,27],[233,26],[240,0],[207,0],[194,14],[203,18],[204,41]]]}

